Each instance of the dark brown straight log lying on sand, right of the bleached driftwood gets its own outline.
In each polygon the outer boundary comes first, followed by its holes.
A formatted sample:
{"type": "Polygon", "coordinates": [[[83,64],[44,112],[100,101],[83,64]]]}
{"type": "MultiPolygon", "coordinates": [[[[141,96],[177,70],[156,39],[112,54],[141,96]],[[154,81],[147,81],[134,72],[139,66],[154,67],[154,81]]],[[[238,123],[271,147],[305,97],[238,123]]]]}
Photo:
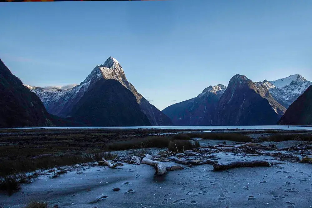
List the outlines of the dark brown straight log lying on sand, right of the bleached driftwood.
{"type": "Polygon", "coordinates": [[[262,160],[235,161],[228,164],[213,164],[214,171],[222,171],[236,167],[270,167],[270,163],[262,160]]]}

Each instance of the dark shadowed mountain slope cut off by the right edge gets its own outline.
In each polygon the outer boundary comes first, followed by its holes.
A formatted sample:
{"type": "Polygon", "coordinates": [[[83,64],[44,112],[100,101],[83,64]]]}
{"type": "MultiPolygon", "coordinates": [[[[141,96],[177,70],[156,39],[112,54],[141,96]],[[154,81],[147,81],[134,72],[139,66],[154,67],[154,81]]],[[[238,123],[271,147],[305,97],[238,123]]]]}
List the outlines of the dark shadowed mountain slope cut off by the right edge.
{"type": "Polygon", "coordinates": [[[280,125],[312,125],[312,85],[286,110],[280,125]]]}

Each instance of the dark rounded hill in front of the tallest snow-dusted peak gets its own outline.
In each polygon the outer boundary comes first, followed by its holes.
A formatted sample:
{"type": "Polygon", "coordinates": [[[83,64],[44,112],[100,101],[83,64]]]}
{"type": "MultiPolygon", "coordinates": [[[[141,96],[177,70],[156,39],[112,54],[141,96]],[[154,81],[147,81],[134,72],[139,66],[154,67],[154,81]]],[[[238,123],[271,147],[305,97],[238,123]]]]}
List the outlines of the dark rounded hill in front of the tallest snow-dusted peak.
{"type": "Polygon", "coordinates": [[[131,91],[113,79],[100,79],[73,107],[71,116],[88,126],[150,126],[131,91]]]}

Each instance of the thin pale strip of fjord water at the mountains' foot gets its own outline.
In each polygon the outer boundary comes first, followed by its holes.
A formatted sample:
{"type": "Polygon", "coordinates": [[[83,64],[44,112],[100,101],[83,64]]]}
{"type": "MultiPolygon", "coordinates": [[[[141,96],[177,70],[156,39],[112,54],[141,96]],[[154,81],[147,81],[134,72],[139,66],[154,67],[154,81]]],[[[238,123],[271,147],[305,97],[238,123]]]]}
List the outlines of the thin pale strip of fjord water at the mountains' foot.
{"type": "Polygon", "coordinates": [[[156,128],[156,129],[281,129],[281,130],[312,130],[312,127],[307,126],[83,126],[83,127],[29,127],[29,128],[14,128],[14,129],[32,129],[32,128],[46,128],[46,129],[75,129],[75,128],[104,128],[104,129],[137,129],[137,128],[156,128]]]}

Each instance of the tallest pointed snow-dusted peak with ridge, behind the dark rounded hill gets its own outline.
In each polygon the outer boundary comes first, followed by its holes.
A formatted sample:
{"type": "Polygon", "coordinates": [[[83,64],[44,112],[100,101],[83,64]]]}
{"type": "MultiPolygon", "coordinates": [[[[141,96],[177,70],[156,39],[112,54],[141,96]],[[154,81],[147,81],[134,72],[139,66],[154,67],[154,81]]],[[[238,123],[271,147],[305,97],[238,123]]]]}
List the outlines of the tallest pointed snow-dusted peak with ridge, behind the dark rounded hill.
{"type": "Polygon", "coordinates": [[[128,82],[124,74],[124,70],[119,62],[113,57],[109,57],[103,65],[96,66],[87,78],[76,85],[72,89],[65,91],[51,92],[51,90],[41,90],[37,87],[28,86],[44,103],[47,111],[51,114],[67,117],[72,114],[73,107],[85,95],[85,93],[94,88],[100,80],[117,80],[125,88],[129,89],[136,98],[141,111],[147,116],[151,125],[167,126],[173,125],[171,119],[159,111],[154,105],[150,104],[141,94],[139,94],[134,86],[128,82]]]}

